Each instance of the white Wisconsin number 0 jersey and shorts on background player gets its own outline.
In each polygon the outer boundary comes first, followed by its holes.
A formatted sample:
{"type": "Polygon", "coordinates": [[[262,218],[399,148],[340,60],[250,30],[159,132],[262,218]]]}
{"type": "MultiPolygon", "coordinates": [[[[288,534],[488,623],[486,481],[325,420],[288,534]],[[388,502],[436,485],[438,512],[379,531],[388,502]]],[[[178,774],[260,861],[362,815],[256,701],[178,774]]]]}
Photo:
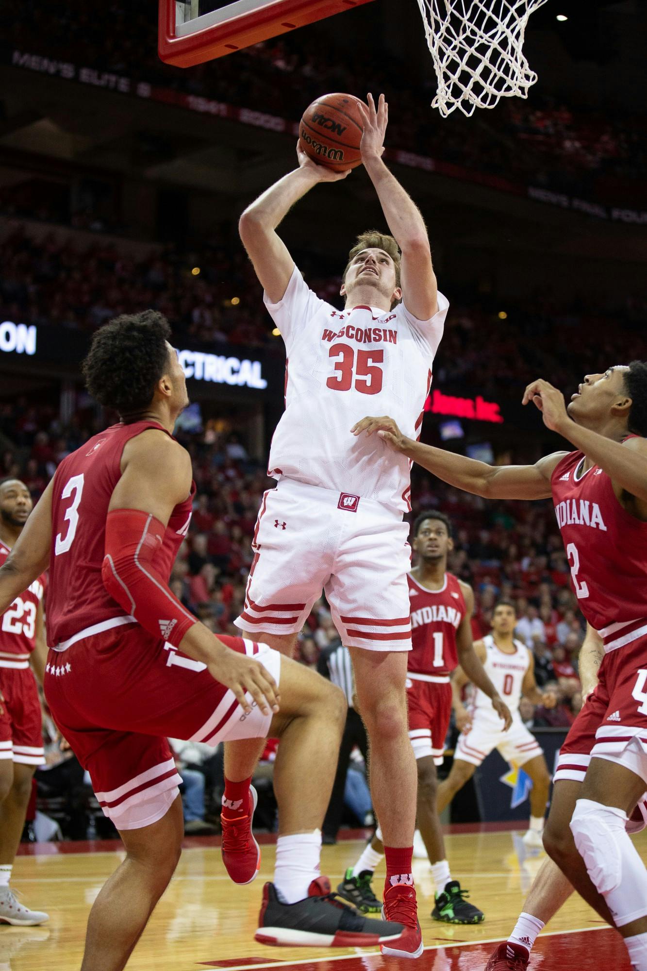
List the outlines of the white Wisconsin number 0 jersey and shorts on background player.
{"type": "Polygon", "coordinates": [[[523,765],[531,758],[542,754],[542,749],[534,735],[521,720],[519,702],[526,672],[530,666],[530,652],[521,641],[515,641],[517,649],[513,654],[503,653],[494,644],[494,637],[488,634],[483,638],[488,656],[483,667],[494,687],[510,709],[512,724],[503,731],[503,721],[492,707],[492,701],[480,688],[472,688],[472,698],[468,704],[472,727],[461,732],[457,743],[456,757],[472,765],[480,765],[493,749],[506,761],[523,765]]]}

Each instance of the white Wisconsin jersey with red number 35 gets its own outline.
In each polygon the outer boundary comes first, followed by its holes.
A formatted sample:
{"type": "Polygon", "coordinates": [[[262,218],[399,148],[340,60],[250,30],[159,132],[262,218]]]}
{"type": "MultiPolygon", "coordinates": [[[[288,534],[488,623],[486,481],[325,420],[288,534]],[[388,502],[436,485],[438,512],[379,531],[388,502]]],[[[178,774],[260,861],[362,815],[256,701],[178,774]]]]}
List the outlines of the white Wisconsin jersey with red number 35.
{"type": "Polygon", "coordinates": [[[283,300],[264,301],[288,353],[286,411],[268,474],[409,510],[409,459],[377,434],[356,438],[351,428],[366,415],[389,415],[404,435],[418,437],[447,299],[438,294],[429,320],[403,303],[392,311],[338,311],[294,267],[283,300]]]}

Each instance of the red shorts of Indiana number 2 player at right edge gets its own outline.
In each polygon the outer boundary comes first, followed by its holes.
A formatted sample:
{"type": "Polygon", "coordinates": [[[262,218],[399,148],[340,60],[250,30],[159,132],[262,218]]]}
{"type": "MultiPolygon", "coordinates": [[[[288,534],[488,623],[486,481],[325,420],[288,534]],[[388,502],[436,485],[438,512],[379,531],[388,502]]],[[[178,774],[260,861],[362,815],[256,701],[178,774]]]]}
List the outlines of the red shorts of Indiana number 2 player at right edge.
{"type": "Polygon", "coordinates": [[[647,783],[647,637],[604,654],[596,690],[562,745],[555,782],[583,782],[596,756],[626,765],[647,783]]]}

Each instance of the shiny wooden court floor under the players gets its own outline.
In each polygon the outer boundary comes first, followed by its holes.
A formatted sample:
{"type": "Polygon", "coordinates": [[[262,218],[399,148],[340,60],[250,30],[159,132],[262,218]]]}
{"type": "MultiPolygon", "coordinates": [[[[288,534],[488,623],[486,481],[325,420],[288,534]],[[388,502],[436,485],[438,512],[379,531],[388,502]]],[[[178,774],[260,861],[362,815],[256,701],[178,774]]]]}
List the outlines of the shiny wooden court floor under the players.
{"type": "MultiPolygon", "coordinates": [[[[483,971],[493,941],[512,929],[543,854],[528,852],[522,833],[476,832],[447,837],[452,875],[470,891],[470,899],[486,914],[473,927],[431,921],[433,885],[428,864],[415,861],[419,912],[426,952],[419,971],[483,971]]],[[[157,905],[129,971],[195,971],[206,967],[228,971],[295,966],[298,971],[413,971],[411,962],[379,953],[330,949],[268,948],[256,944],[254,931],[262,882],[271,879],[274,846],[262,847],[258,878],[235,887],[222,867],[213,839],[187,841],[176,875],[157,905]]],[[[647,858],[647,831],[636,839],[647,858]]],[[[85,844],[87,847],[88,845],[85,844]]],[[[19,855],[13,886],[30,906],[46,910],[42,927],[0,926],[0,971],[77,971],[81,964],[87,913],[105,879],[118,865],[116,849],[99,852],[44,852],[19,855]]],[[[322,871],[333,886],[355,862],[360,841],[323,847],[322,871]]],[[[74,849],[68,845],[64,850],[74,849]]],[[[377,884],[380,887],[381,883],[377,884]]],[[[378,890],[378,896],[379,896],[378,890]]],[[[629,971],[624,946],[615,931],[604,929],[597,915],[573,896],[547,928],[530,962],[532,971],[629,971]]]]}

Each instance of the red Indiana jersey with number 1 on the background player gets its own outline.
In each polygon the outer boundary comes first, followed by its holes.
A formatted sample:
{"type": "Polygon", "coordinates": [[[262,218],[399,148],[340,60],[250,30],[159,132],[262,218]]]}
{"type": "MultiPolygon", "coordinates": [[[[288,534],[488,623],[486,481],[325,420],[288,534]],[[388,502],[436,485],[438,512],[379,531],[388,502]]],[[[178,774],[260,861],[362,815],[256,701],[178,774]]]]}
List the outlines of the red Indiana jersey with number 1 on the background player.
{"type": "Polygon", "coordinates": [[[465,598],[453,573],[445,574],[439,590],[427,590],[408,574],[411,604],[412,651],[407,671],[432,676],[450,675],[459,665],[456,632],[465,616],[465,598]]]}

